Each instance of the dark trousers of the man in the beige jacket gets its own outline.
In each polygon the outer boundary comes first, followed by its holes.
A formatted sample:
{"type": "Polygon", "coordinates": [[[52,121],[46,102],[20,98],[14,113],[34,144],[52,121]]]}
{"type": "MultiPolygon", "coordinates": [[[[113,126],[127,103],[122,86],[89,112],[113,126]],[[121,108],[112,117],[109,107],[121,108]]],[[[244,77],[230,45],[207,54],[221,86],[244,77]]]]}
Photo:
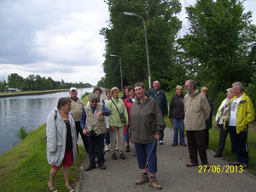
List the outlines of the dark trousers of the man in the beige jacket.
{"type": "Polygon", "coordinates": [[[198,163],[197,150],[201,159],[202,165],[208,164],[207,150],[205,144],[205,130],[187,131],[188,148],[190,162],[198,163]]]}

